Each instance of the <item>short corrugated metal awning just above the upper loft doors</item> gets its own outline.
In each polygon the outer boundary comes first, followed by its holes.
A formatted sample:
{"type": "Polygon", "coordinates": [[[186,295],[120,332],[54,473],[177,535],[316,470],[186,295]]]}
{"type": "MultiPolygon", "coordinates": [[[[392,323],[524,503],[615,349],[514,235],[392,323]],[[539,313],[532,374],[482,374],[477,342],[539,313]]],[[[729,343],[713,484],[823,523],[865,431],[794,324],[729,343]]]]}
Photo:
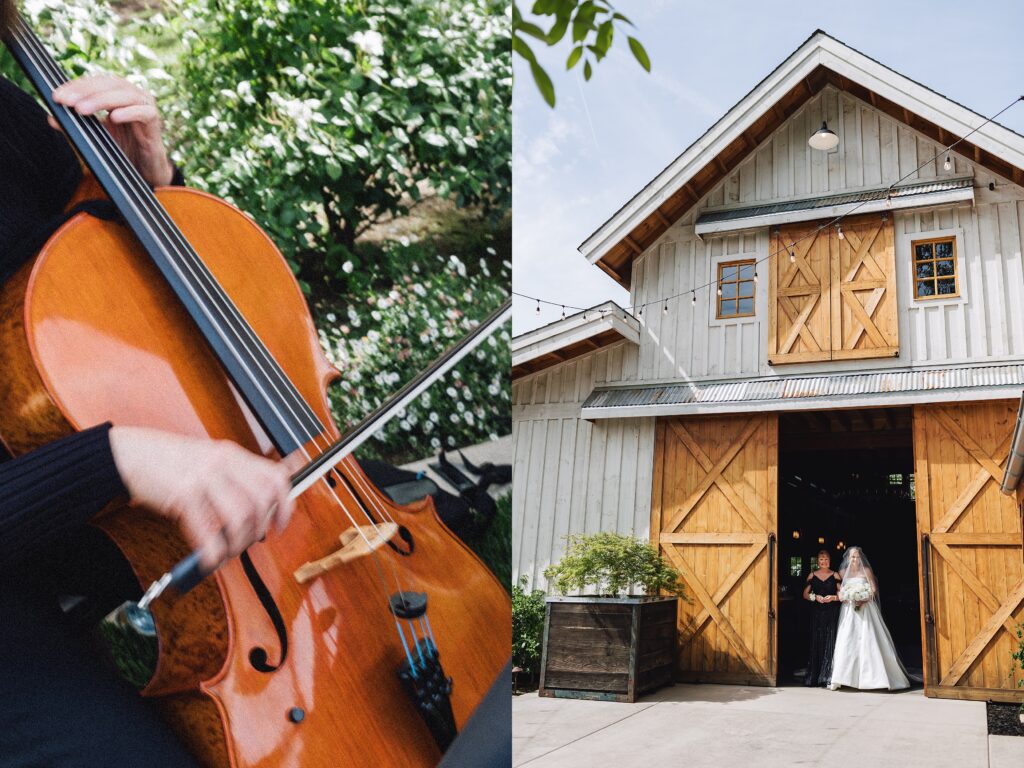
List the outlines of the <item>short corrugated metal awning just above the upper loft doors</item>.
{"type": "Polygon", "coordinates": [[[888,186],[882,186],[877,189],[864,189],[843,195],[707,211],[697,217],[694,231],[697,234],[708,234],[794,221],[813,221],[847,213],[851,206],[857,204],[860,204],[857,213],[870,213],[871,211],[920,208],[968,200],[974,200],[974,179],[972,177],[933,179],[895,186],[892,189],[888,186]]]}

